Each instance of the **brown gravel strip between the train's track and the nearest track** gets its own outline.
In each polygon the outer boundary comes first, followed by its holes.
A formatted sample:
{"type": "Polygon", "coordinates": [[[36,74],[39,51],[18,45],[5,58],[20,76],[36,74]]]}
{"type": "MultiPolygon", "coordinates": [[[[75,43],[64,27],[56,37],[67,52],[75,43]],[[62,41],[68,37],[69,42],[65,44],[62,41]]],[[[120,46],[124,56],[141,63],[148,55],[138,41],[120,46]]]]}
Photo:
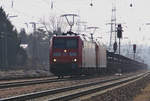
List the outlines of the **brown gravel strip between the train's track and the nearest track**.
{"type": "MultiPolygon", "coordinates": [[[[125,76],[125,74],[123,76],[125,76]]],[[[5,89],[0,89],[0,98],[7,98],[11,96],[27,94],[27,93],[32,93],[32,92],[37,92],[42,90],[56,89],[56,88],[68,87],[72,85],[83,84],[83,83],[101,81],[112,77],[117,77],[117,76],[113,75],[113,76],[97,77],[97,78],[84,79],[84,80],[61,81],[61,82],[22,86],[22,87],[5,88],[5,89]]]]}

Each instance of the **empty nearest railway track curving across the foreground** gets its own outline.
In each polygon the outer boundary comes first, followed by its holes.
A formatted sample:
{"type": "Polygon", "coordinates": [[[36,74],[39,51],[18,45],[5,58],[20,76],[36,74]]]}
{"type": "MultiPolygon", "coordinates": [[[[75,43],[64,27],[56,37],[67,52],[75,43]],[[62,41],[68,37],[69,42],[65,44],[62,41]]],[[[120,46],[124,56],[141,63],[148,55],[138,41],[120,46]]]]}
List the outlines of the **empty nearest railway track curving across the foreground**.
{"type": "Polygon", "coordinates": [[[20,96],[0,99],[1,101],[68,101],[84,95],[92,94],[97,91],[115,87],[133,80],[141,79],[147,76],[148,73],[142,73],[135,76],[120,77],[115,79],[97,81],[93,83],[80,84],[71,87],[46,90],[36,93],[24,94],[20,96]]]}

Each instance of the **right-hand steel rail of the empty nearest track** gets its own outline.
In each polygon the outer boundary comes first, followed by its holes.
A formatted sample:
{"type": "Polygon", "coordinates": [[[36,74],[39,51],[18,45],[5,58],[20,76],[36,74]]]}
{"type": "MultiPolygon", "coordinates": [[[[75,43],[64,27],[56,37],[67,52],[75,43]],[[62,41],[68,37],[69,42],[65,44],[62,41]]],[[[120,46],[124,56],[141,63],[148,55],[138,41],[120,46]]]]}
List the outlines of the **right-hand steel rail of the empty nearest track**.
{"type": "Polygon", "coordinates": [[[78,98],[78,97],[81,97],[81,96],[84,96],[84,95],[92,94],[92,93],[95,93],[95,92],[98,92],[98,91],[103,91],[105,89],[112,88],[112,87],[130,82],[132,80],[141,78],[142,76],[145,77],[145,75],[146,74],[139,75],[139,76],[134,76],[134,77],[131,77],[131,78],[128,77],[128,78],[125,78],[124,80],[115,80],[112,83],[108,83],[108,84],[105,84],[105,85],[102,85],[102,86],[99,85],[98,87],[93,87],[93,88],[89,88],[89,89],[86,89],[86,90],[80,89],[81,91],[78,91],[78,92],[73,92],[73,93],[69,93],[69,94],[66,94],[66,95],[61,95],[61,96],[49,98],[48,101],[68,101],[68,100],[72,100],[72,99],[75,99],[75,98],[78,98]]]}

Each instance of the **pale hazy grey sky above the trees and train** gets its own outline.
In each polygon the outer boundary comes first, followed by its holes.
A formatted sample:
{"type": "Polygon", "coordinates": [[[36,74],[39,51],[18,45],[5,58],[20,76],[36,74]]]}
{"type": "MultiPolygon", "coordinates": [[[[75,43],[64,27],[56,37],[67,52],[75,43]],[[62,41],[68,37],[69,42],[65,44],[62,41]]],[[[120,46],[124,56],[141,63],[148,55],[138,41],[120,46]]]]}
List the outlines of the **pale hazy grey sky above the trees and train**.
{"type": "MultiPolygon", "coordinates": [[[[18,15],[10,18],[18,30],[23,27],[27,29],[24,23],[39,22],[52,15],[75,13],[80,15],[81,21],[88,22],[88,26],[99,27],[97,34],[108,42],[110,26],[106,23],[110,23],[114,1],[117,23],[123,23],[123,36],[128,37],[123,42],[147,44],[150,40],[150,25],[145,23],[150,23],[150,0],[92,0],[93,7],[90,7],[91,0],[0,0],[0,5],[10,16],[18,15]]],[[[31,29],[30,25],[27,30],[31,29]]]]}

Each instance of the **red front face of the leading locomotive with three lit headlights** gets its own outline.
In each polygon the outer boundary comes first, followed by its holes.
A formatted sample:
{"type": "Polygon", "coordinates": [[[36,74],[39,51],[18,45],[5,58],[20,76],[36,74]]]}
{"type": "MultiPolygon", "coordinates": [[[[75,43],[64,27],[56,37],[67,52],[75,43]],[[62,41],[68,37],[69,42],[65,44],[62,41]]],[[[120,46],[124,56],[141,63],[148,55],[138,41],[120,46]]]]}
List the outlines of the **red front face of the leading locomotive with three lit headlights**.
{"type": "Polygon", "coordinates": [[[57,76],[79,73],[80,52],[79,36],[54,36],[50,44],[50,71],[57,76]]]}

